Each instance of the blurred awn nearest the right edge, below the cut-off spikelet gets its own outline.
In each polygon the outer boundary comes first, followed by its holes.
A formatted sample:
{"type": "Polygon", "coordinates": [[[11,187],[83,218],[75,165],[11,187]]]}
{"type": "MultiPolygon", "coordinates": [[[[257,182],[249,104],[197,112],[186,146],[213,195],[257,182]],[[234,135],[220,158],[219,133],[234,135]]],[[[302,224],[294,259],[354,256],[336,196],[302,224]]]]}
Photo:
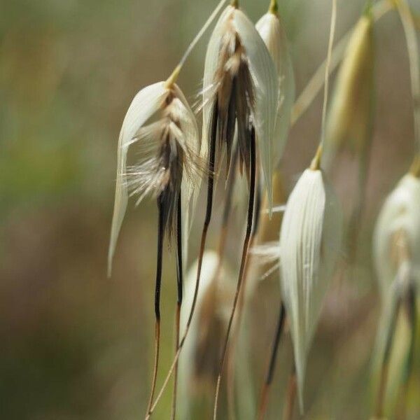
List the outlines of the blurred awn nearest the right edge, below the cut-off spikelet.
{"type": "Polygon", "coordinates": [[[402,384],[399,394],[398,402],[398,420],[405,420],[407,413],[407,391],[409,380],[412,377],[414,350],[416,349],[416,331],[417,331],[417,305],[416,305],[416,290],[412,285],[407,292],[407,315],[409,319],[410,328],[410,342],[405,361],[404,372],[402,373],[402,384]]]}

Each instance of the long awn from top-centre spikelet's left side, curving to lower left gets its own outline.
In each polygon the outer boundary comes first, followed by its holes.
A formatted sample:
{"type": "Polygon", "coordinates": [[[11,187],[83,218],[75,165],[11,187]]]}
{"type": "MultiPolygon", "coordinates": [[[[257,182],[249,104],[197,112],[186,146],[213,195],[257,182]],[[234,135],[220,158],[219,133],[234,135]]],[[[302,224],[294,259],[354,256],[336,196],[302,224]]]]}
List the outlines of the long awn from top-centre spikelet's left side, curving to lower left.
{"type": "Polygon", "coordinates": [[[155,399],[155,402],[153,402],[153,405],[148,410],[148,414],[146,415],[145,420],[148,420],[148,419],[151,418],[151,415],[153,414],[153,410],[156,408],[156,405],[158,405],[158,402],[159,402],[160,398],[162,397],[162,394],[165,391],[165,388],[167,387],[167,384],[169,383],[169,379],[171,379],[172,373],[174,372],[175,367],[176,367],[176,363],[178,363],[179,355],[181,354],[183,344],[186,342],[186,338],[188,336],[188,331],[190,330],[191,321],[193,321],[195,304],[197,303],[198,289],[200,288],[200,275],[201,275],[201,269],[202,269],[204,248],[206,247],[207,230],[209,229],[209,225],[210,225],[210,221],[211,221],[211,211],[213,209],[214,161],[216,159],[216,134],[217,134],[217,120],[218,120],[218,101],[217,101],[217,99],[216,99],[216,102],[214,104],[213,114],[212,114],[211,118],[212,119],[211,119],[211,132],[210,132],[211,141],[210,141],[210,150],[209,150],[209,179],[207,181],[207,209],[206,209],[206,216],[204,218],[204,226],[203,226],[203,230],[202,230],[200,253],[199,253],[199,256],[198,256],[197,279],[195,281],[193,304],[191,305],[190,314],[188,316],[186,330],[183,333],[181,341],[179,342],[178,351],[176,351],[176,354],[174,356],[174,360],[172,360],[172,365],[169,368],[169,372],[167,374],[167,377],[165,378],[165,381],[163,382],[162,388],[160,388],[160,391],[158,393],[158,396],[155,399]]]}

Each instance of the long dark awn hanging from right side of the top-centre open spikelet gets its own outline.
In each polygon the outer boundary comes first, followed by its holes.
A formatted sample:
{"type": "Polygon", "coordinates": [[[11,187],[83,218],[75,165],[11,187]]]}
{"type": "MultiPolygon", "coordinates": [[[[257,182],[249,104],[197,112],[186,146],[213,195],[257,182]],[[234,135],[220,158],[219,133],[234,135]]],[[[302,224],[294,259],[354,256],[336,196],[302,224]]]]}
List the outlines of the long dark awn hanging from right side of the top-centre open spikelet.
{"type": "Polygon", "coordinates": [[[249,183],[249,202],[248,202],[248,221],[246,225],[246,233],[245,233],[245,239],[244,239],[244,247],[242,249],[242,257],[241,257],[241,266],[239,268],[239,277],[237,282],[237,290],[235,292],[235,299],[233,302],[232,312],[230,314],[229,323],[228,323],[228,330],[225,335],[225,342],[223,344],[223,351],[222,351],[222,357],[221,357],[221,365],[219,367],[218,372],[218,379],[216,384],[216,397],[214,400],[214,413],[213,413],[213,419],[216,420],[217,417],[217,407],[218,407],[218,395],[221,387],[221,377],[223,372],[223,365],[225,363],[226,358],[226,352],[228,349],[228,341],[230,336],[230,330],[232,328],[232,321],[235,316],[235,311],[237,307],[239,292],[241,290],[241,284],[242,284],[242,277],[244,275],[244,267],[246,262],[246,257],[248,255],[248,246],[249,246],[249,239],[251,237],[251,230],[253,225],[253,210],[254,210],[254,200],[255,200],[255,162],[256,162],[256,156],[255,156],[255,129],[251,129],[251,171],[250,171],[250,183],[249,183]]]}

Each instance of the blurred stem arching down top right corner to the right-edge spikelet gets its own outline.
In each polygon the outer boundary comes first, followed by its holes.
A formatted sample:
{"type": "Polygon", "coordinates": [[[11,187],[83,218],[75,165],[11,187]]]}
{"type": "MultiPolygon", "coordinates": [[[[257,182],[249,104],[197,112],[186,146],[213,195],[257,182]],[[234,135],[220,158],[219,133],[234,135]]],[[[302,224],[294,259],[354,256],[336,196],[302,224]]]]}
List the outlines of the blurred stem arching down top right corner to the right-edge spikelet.
{"type": "Polygon", "coordinates": [[[411,76],[412,100],[414,109],[414,139],[416,153],[420,153],[420,63],[419,45],[417,43],[416,28],[412,13],[405,0],[395,0],[400,13],[402,27],[404,27],[405,39],[409,57],[409,72],[411,76]]]}

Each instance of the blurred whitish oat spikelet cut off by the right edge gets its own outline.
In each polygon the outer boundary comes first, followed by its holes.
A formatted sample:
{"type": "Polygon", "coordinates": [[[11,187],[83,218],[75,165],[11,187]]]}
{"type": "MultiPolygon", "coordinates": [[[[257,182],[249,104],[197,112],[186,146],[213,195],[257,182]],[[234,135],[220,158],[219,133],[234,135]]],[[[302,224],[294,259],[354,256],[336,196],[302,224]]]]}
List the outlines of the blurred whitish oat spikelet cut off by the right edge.
{"type": "Polygon", "coordinates": [[[405,175],[388,195],[374,230],[374,263],[381,291],[381,317],[375,349],[375,362],[380,366],[376,414],[384,411],[390,385],[395,386],[395,354],[405,342],[405,370],[398,383],[407,386],[412,369],[416,325],[416,290],[420,279],[420,179],[405,175]],[[411,335],[397,337],[402,307],[407,306],[411,335]]]}

